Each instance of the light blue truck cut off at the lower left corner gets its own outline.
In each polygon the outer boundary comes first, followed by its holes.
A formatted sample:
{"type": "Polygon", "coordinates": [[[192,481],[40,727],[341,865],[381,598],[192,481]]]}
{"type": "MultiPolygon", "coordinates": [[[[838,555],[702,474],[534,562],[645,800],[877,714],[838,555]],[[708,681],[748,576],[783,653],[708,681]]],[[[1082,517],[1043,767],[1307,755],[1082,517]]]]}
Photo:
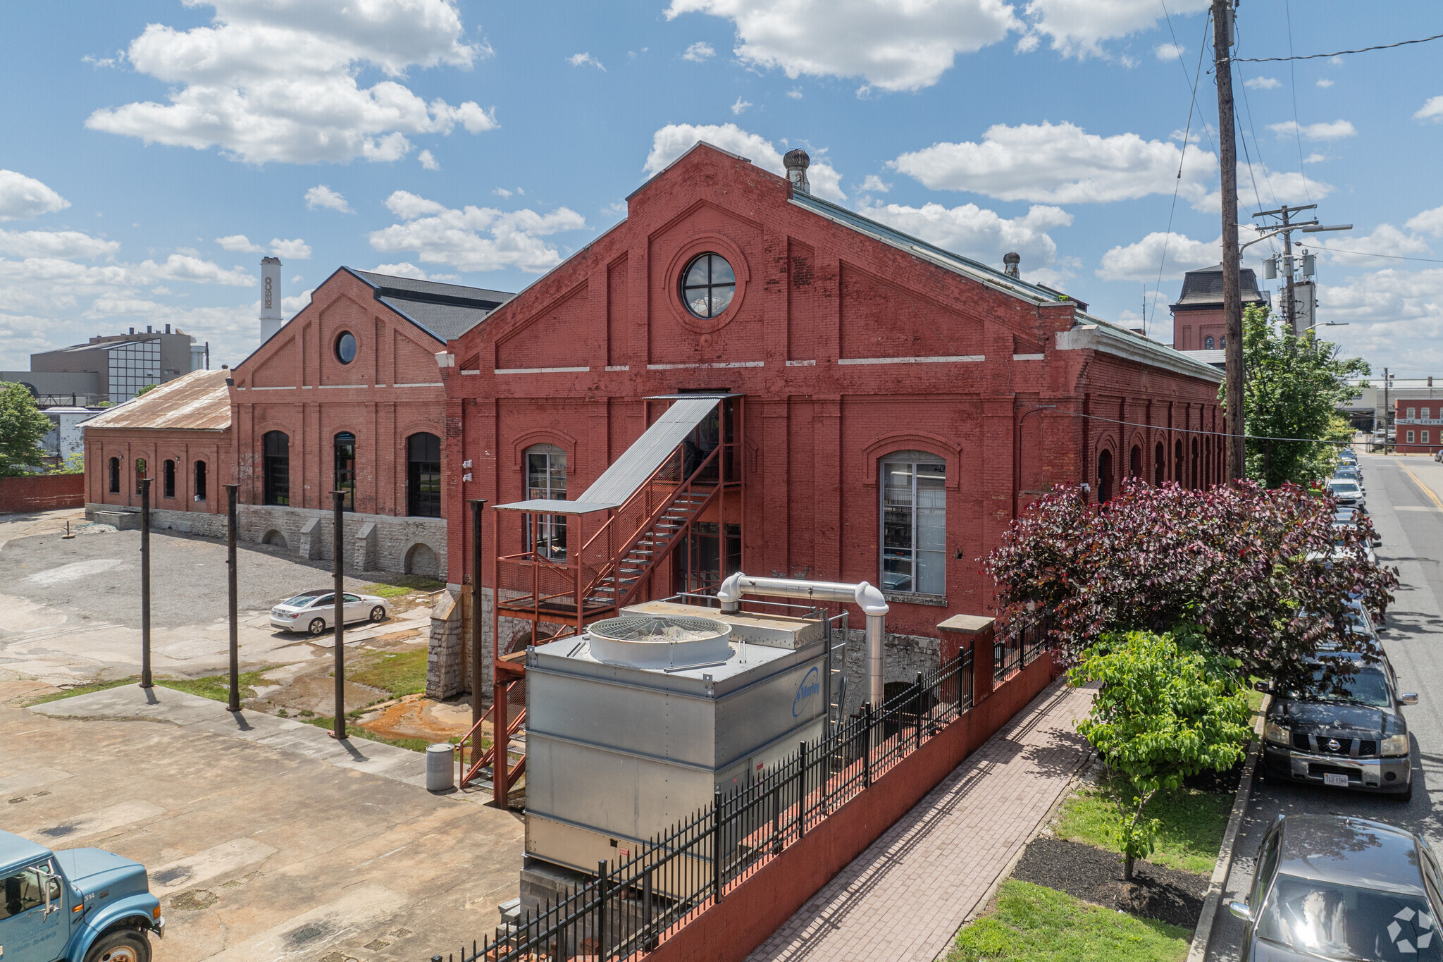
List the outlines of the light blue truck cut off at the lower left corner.
{"type": "Polygon", "coordinates": [[[102,848],[51,851],[0,831],[0,962],[150,962],[165,935],[146,867],[102,848]]]}

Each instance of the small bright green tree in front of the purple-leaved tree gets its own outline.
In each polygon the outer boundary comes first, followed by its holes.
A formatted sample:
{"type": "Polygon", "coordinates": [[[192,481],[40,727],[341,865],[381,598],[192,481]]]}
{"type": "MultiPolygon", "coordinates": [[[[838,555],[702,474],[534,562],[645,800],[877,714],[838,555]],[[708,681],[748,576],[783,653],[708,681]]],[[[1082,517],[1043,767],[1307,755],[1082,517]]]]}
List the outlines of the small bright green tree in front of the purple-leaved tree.
{"type": "Polygon", "coordinates": [[[1189,775],[1231,769],[1253,734],[1232,665],[1189,650],[1201,636],[1180,637],[1183,645],[1175,635],[1110,635],[1069,672],[1074,685],[1102,684],[1078,731],[1127,780],[1136,808],[1123,816],[1118,841],[1128,880],[1134,860],[1153,852],[1159,822],[1143,818],[1153,796],[1189,775]]]}

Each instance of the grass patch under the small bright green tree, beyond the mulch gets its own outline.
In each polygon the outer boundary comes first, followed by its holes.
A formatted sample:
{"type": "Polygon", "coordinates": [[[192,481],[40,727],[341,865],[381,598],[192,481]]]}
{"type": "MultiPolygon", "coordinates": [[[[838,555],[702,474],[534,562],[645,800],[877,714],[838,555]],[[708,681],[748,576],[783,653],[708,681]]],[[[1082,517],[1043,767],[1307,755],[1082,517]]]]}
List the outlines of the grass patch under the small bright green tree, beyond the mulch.
{"type": "MultiPolygon", "coordinates": [[[[1212,874],[1231,812],[1231,795],[1182,787],[1156,796],[1147,803],[1144,816],[1156,818],[1162,825],[1157,831],[1157,848],[1147,861],[1196,875],[1212,874]]],[[[1121,854],[1117,826],[1124,816],[1131,815],[1131,808],[1121,805],[1118,792],[1104,783],[1095,789],[1082,789],[1063,802],[1056,834],[1058,838],[1121,854]]]]}

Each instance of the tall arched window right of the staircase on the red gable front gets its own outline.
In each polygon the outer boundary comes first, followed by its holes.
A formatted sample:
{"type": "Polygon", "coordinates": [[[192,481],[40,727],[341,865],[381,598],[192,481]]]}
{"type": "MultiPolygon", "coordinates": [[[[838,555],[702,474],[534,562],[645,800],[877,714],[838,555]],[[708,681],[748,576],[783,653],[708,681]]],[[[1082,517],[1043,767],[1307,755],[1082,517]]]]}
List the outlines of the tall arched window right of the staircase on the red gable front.
{"type": "Polygon", "coordinates": [[[947,594],[947,460],[895,451],[882,477],[882,587],[947,594]]]}

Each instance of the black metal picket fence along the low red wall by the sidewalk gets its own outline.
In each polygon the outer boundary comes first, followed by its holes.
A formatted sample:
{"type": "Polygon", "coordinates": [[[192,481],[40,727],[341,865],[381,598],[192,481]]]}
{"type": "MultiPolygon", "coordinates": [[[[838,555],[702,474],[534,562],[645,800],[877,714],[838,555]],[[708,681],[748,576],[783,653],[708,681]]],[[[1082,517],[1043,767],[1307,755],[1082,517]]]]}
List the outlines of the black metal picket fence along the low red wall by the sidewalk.
{"type": "Polygon", "coordinates": [[[971,707],[973,653],[964,650],[919,672],[880,708],[864,704],[830,736],[802,741],[752,785],[726,795],[717,789],[711,805],[633,857],[597,862],[596,878],[498,929],[496,939],[447,959],[609,962],[651,952],[971,707]]]}

